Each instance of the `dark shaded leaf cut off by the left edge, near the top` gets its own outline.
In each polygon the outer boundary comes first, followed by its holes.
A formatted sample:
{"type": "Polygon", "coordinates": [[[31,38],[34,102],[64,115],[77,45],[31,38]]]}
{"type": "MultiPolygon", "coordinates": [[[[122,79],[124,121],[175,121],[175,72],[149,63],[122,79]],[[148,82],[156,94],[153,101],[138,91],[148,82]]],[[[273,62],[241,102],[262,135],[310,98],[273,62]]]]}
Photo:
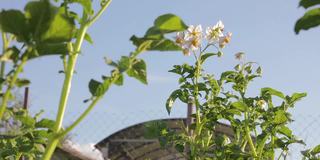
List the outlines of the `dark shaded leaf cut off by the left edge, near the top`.
{"type": "Polygon", "coordinates": [[[0,28],[3,32],[17,36],[18,41],[28,41],[28,25],[24,14],[19,10],[0,12],[0,28]]]}

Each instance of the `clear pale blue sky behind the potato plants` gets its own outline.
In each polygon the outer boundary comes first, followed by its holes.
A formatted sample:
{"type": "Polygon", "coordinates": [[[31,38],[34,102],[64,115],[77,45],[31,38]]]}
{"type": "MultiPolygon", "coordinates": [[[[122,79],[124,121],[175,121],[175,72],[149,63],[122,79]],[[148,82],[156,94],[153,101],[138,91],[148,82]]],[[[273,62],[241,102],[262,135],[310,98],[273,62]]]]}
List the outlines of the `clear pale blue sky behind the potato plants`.
{"type": "MultiPolygon", "coordinates": [[[[1,0],[0,8],[21,8],[25,2],[1,0]]],[[[208,71],[219,75],[232,69],[237,63],[234,54],[245,52],[248,60],[258,62],[263,68],[263,77],[249,88],[250,95],[258,94],[261,87],[273,87],[287,94],[307,92],[307,98],[292,111],[294,118],[319,115],[320,30],[295,35],[294,24],[304,13],[304,9],[297,6],[298,0],[114,0],[89,29],[94,44],[83,45],[64,124],[70,124],[75,115],[85,109],[82,101],[90,96],[89,80],[100,79],[102,74],[109,73],[110,68],[104,64],[103,57],[118,59],[128,55],[134,49],[129,38],[133,34],[142,36],[153,20],[165,13],[180,16],[188,25],[202,24],[204,27],[222,20],[226,31],[233,32],[232,41],[224,49],[223,58],[212,59],[206,66],[208,71]]],[[[192,57],[178,52],[147,52],[141,57],[147,62],[149,85],[126,77],[123,87],[112,87],[94,113],[74,131],[78,135],[75,136],[77,141],[97,142],[125,126],[167,117],[166,98],[178,87],[177,77],[167,71],[174,64],[192,62],[192,57]],[[99,132],[99,136],[90,135],[93,132],[99,132]]],[[[63,80],[63,75],[58,74],[61,68],[58,57],[45,57],[27,64],[22,76],[32,81],[32,112],[44,109],[45,116],[54,117],[63,80]]],[[[171,117],[185,114],[186,106],[176,103],[171,117]]]]}

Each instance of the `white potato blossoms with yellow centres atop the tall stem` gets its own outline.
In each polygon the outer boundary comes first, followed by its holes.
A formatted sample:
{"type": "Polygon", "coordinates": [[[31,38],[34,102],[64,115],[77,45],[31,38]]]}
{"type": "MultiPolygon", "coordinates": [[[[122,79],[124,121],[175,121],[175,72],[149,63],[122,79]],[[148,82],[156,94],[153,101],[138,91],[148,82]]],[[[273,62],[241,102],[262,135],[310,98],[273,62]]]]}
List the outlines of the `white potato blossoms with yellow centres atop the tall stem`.
{"type": "Polygon", "coordinates": [[[224,33],[224,24],[218,21],[216,25],[207,27],[205,36],[202,33],[201,25],[190,25],[187,31],[178,32],[176,43],[183,49],[184,55],[190,55],[201,47],[201,41],[204,37],[207,45],[217,45],[219,48],[224,48],[231,40],[232,33],[224,33]]]}

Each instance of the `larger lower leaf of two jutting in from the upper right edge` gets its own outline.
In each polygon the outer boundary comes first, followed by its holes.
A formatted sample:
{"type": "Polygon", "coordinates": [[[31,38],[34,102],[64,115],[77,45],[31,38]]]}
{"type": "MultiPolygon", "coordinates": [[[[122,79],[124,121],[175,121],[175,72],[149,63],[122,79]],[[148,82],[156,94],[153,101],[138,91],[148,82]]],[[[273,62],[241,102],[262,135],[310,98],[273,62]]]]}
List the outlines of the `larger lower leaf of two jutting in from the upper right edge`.
{"type": "Polygon", "coordinates": [[[294,28],[296,34],[301,30],[308,30],[320,24],[320,8],[307,11],[297,22],[294,28]]]}

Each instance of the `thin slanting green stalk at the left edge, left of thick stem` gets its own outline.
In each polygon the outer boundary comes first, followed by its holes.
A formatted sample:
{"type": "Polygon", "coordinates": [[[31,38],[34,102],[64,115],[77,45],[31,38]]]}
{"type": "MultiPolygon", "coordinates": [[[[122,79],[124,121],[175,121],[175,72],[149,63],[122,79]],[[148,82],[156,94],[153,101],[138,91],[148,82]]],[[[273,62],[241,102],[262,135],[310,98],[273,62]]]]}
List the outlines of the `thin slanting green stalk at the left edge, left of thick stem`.
{"type": "Polygon", "coordinates": [[[2,97],[2,102],[1,102],[1,106],[0,106],[0,120],[2,119],[3,114],[6,111],[7,103],[10,98],[10,92],[18,79],[19,73],[22,72],[25,63],[27,62],[27,59],[28,59],[27,56],[24,56],[22,58],[20,64],[17,66],[17,69],[13,73],[12,79],[10,80],[10,83],[8,85],[6,92],[4,93],[4,95],[2,97]]]}

